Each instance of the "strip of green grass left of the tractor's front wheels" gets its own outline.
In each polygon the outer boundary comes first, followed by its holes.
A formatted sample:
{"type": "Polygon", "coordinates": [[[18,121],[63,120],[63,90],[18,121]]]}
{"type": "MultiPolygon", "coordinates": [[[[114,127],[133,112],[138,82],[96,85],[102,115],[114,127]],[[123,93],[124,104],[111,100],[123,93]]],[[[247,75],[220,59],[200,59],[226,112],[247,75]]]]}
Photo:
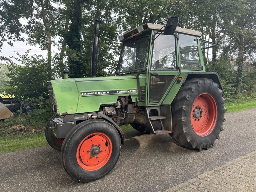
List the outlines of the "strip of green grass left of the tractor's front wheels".
{"type": "Polygon", "coordinates": [[[20,138],[0,138],[0,154],[30,149],[48,145],[44,134],[34,134],[29,137],[20,138]]]}

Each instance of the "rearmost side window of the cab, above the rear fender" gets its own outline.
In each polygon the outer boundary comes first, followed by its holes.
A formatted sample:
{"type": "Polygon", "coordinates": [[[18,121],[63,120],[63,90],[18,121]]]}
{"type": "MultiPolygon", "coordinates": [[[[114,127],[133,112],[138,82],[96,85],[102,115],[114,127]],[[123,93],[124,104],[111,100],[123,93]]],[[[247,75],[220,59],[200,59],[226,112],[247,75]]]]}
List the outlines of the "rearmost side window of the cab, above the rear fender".
{"type": "Polygon", "coordinates": [[[202,70],[195,36],[179,34],[180,64],[183,70],[202,70]]]}

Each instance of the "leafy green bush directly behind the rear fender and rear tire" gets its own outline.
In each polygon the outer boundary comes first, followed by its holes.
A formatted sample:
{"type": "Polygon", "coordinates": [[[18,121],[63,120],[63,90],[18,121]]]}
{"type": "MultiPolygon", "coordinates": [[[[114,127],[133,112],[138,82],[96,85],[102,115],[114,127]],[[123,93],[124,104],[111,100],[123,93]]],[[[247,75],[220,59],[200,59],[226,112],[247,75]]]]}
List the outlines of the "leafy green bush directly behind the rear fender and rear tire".
{"type": "Polygon", "coordinates": [[[209,62],[206,66],[206,72],[217,72],[220,77],[220,81],[223,87],[223,97],[226,100],[230,100],[235,97],[236,94],[236,73],[231,68],[228,60],[223,58],[217,60],[217,62],[209,62]]]}

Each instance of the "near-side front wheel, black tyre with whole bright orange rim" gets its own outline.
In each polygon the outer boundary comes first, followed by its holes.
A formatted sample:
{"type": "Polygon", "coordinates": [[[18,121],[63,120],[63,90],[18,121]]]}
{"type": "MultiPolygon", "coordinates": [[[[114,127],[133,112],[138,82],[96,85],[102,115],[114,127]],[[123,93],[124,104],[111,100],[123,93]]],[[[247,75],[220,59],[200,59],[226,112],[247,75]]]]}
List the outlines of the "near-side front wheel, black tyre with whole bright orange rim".
{"type": "Polygon", "coordinates": [[[121,139],[115,127],[92,119],[70,130],[61,148],[61,160],[71,177],[90,182],[114,168],[120,151],[121,139]]]}

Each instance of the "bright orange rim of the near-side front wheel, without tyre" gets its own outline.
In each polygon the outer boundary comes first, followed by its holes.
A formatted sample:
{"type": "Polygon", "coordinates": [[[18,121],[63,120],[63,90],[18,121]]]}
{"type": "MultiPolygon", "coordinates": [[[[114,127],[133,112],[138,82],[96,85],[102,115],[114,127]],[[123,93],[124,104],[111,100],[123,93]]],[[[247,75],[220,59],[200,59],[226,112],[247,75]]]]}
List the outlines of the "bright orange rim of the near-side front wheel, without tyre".
{"type": "Polygon", "coordinates": [[[108,162],[111,154],[112,142],[108,135],[96,132],[80,142],[76,151],[76,160],[84,170],[95,171],[108,162]]]}

